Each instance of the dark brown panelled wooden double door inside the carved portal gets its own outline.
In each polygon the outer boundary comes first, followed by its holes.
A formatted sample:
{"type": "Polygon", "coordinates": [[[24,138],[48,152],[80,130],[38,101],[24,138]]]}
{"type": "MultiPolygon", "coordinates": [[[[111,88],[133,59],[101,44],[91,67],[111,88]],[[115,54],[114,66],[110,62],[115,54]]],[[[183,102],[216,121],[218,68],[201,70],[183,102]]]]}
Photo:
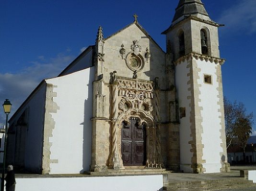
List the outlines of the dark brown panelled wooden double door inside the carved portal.
{"type": "Polygon", "coordinates": [[[122,159],[125,166],[141,166],[146,163],[146,127],[131,117],[130,124],[122,123],[122,159]]]}

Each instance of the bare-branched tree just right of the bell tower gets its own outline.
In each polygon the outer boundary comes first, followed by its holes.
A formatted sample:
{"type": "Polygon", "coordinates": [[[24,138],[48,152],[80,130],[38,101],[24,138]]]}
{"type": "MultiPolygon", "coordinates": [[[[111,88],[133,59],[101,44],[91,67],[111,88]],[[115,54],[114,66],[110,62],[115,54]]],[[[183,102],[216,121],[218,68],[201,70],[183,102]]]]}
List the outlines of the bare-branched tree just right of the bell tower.
{"type": "Polygon", "coordinates": [[[236,101],[232,103],[225,97],[224,113],[227,149],[236,145],[245,150],[254,124],[253,113],[246,115],[246,108],[243,103],[236,101]]]}

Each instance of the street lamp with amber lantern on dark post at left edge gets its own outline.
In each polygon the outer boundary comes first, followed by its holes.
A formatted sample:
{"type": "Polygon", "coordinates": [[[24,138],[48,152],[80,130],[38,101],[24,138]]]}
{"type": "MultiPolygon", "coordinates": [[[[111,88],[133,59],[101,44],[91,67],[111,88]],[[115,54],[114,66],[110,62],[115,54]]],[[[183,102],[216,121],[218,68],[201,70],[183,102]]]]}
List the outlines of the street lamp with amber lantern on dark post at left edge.
{"type": "Polygon", "coordinates": [[[6,123],[5,123],[5,132],[4,132],[4,150],[3,150],[3,170],[2,170],[2,180],[1,180],[1,191],[4,190],[4,174],[5,174],[5,159],[6,159],[6,140],[7,140],[7,123],[8,123],[8,115],[11,112],[12,104],[6,99],[3,103],[3,110],[6,114],[6,123]]]}

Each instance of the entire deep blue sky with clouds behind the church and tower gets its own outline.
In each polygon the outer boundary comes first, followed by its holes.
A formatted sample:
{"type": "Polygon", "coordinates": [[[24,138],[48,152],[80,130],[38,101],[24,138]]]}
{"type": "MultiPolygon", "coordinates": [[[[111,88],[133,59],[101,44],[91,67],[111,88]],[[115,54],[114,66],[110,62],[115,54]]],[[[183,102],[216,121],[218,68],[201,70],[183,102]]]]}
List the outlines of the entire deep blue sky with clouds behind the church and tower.
{"type": "MultiPolygon", "coordinates": [[[[224,95],[243,102],[256,121],[256,0],[202,0],[219,29],[224,95]]],[[[161,35],[178,0],[1,0],[0,102],[15,111],[47,77],[58,75],[81,51],[138,21],[165,50],[161,35]],[[1,101],[2,100],[2,101],[1,101]]],[[[12,112],[13,113],[13,112],[12,112]]],[[[11,115],[12,115],[11,113],[11,115]]],[[[0,112],[0,122],[5,116],[0,112]]],[[[256,125],[254,125],[256,129],[256,125]]]]}

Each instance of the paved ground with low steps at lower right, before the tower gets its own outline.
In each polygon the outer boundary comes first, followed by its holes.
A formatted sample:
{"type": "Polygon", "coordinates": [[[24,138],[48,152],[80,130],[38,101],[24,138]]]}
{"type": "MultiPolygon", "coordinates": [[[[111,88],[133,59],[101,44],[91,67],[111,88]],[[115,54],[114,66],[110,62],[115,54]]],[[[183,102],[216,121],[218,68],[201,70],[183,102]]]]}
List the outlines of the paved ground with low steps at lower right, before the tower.
{"type": "Polygon", "coordinates": [[[256,191],[256,184],[240,177],[240,170],[212,174],[169,173],[166,191],[256,191]]]}

